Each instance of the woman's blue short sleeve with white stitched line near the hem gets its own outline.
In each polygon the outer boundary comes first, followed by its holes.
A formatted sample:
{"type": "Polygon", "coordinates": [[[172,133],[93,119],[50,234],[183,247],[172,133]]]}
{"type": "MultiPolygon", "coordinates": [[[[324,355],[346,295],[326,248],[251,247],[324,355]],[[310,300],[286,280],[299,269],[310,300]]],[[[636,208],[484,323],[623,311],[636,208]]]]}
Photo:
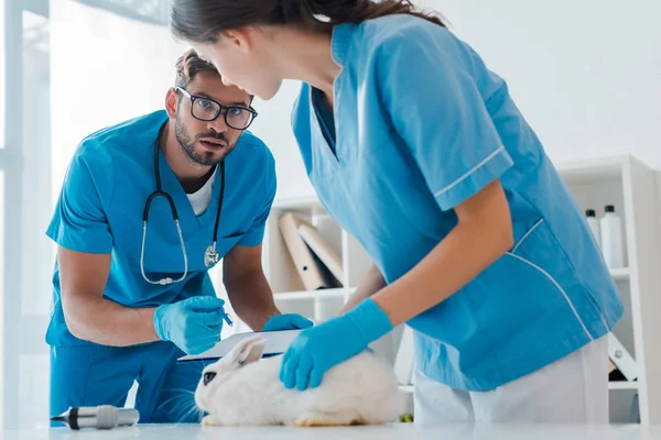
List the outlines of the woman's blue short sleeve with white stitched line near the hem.
{"type": "Polygon", "coordinates": [[[476,76],[487,70],[472,51],[436,25],[382,43],[379,89],[442,210],[464,202],[513,162],[487,110],[476,76]]]}

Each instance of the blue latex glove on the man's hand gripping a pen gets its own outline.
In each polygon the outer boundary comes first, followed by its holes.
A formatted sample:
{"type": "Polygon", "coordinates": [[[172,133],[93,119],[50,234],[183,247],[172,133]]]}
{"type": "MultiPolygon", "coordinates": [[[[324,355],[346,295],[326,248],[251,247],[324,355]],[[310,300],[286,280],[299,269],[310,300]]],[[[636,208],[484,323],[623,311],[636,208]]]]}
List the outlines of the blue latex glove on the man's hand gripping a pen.
{"type": "Polygon", "coordinates": [[[199,354],[220,341],[225,301],[215,296],[195,296],[164,304],[154,314],[154,329],[163,341],[172,341],[186,354],[199,354]]]}

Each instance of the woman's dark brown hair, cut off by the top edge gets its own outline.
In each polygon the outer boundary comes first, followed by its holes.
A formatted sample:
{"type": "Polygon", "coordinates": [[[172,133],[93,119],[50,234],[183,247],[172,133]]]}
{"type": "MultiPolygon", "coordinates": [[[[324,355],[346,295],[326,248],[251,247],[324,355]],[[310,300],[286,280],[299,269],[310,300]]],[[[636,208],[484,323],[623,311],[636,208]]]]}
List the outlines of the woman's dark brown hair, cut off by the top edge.
{"type": "Polygon", "coordinates": [[[410,0],[172,0],[171,26],[178,38],[215,43],[220,32],[248,25],[329,28],[392,14],[415,15],[445,26],[438,13],[420,11],[410,0]]]}

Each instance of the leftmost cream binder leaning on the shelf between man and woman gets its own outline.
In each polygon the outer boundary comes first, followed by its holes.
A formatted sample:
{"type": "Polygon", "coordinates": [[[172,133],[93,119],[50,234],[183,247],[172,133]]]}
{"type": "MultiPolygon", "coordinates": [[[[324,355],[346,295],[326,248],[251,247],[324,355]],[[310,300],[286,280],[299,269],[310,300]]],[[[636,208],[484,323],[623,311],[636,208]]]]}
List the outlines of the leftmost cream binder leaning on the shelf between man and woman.
{"type": "Polygon", "coordinates": [[[318,290],[323,288],[340,287],[339,283],[327,267],[310,250],[303,238],[299,234],[299,227],[306,224],[300,217],[288,212],[279,220],[282,239],[292,256],[296,272],[307,290],[318,290]]]}

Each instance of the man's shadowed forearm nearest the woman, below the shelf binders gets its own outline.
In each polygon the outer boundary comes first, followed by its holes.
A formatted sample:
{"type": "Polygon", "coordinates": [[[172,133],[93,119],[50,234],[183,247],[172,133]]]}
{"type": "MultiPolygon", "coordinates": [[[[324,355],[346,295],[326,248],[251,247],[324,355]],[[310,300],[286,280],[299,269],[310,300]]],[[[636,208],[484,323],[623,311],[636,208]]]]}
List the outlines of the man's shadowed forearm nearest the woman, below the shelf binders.
{"type": "Polygon", "coordinates": [[[226,276],[225,287],[237,316],[254,331],[261,330],[269,318],[280,314],[261,268],[239,276],[226,276]]]}

